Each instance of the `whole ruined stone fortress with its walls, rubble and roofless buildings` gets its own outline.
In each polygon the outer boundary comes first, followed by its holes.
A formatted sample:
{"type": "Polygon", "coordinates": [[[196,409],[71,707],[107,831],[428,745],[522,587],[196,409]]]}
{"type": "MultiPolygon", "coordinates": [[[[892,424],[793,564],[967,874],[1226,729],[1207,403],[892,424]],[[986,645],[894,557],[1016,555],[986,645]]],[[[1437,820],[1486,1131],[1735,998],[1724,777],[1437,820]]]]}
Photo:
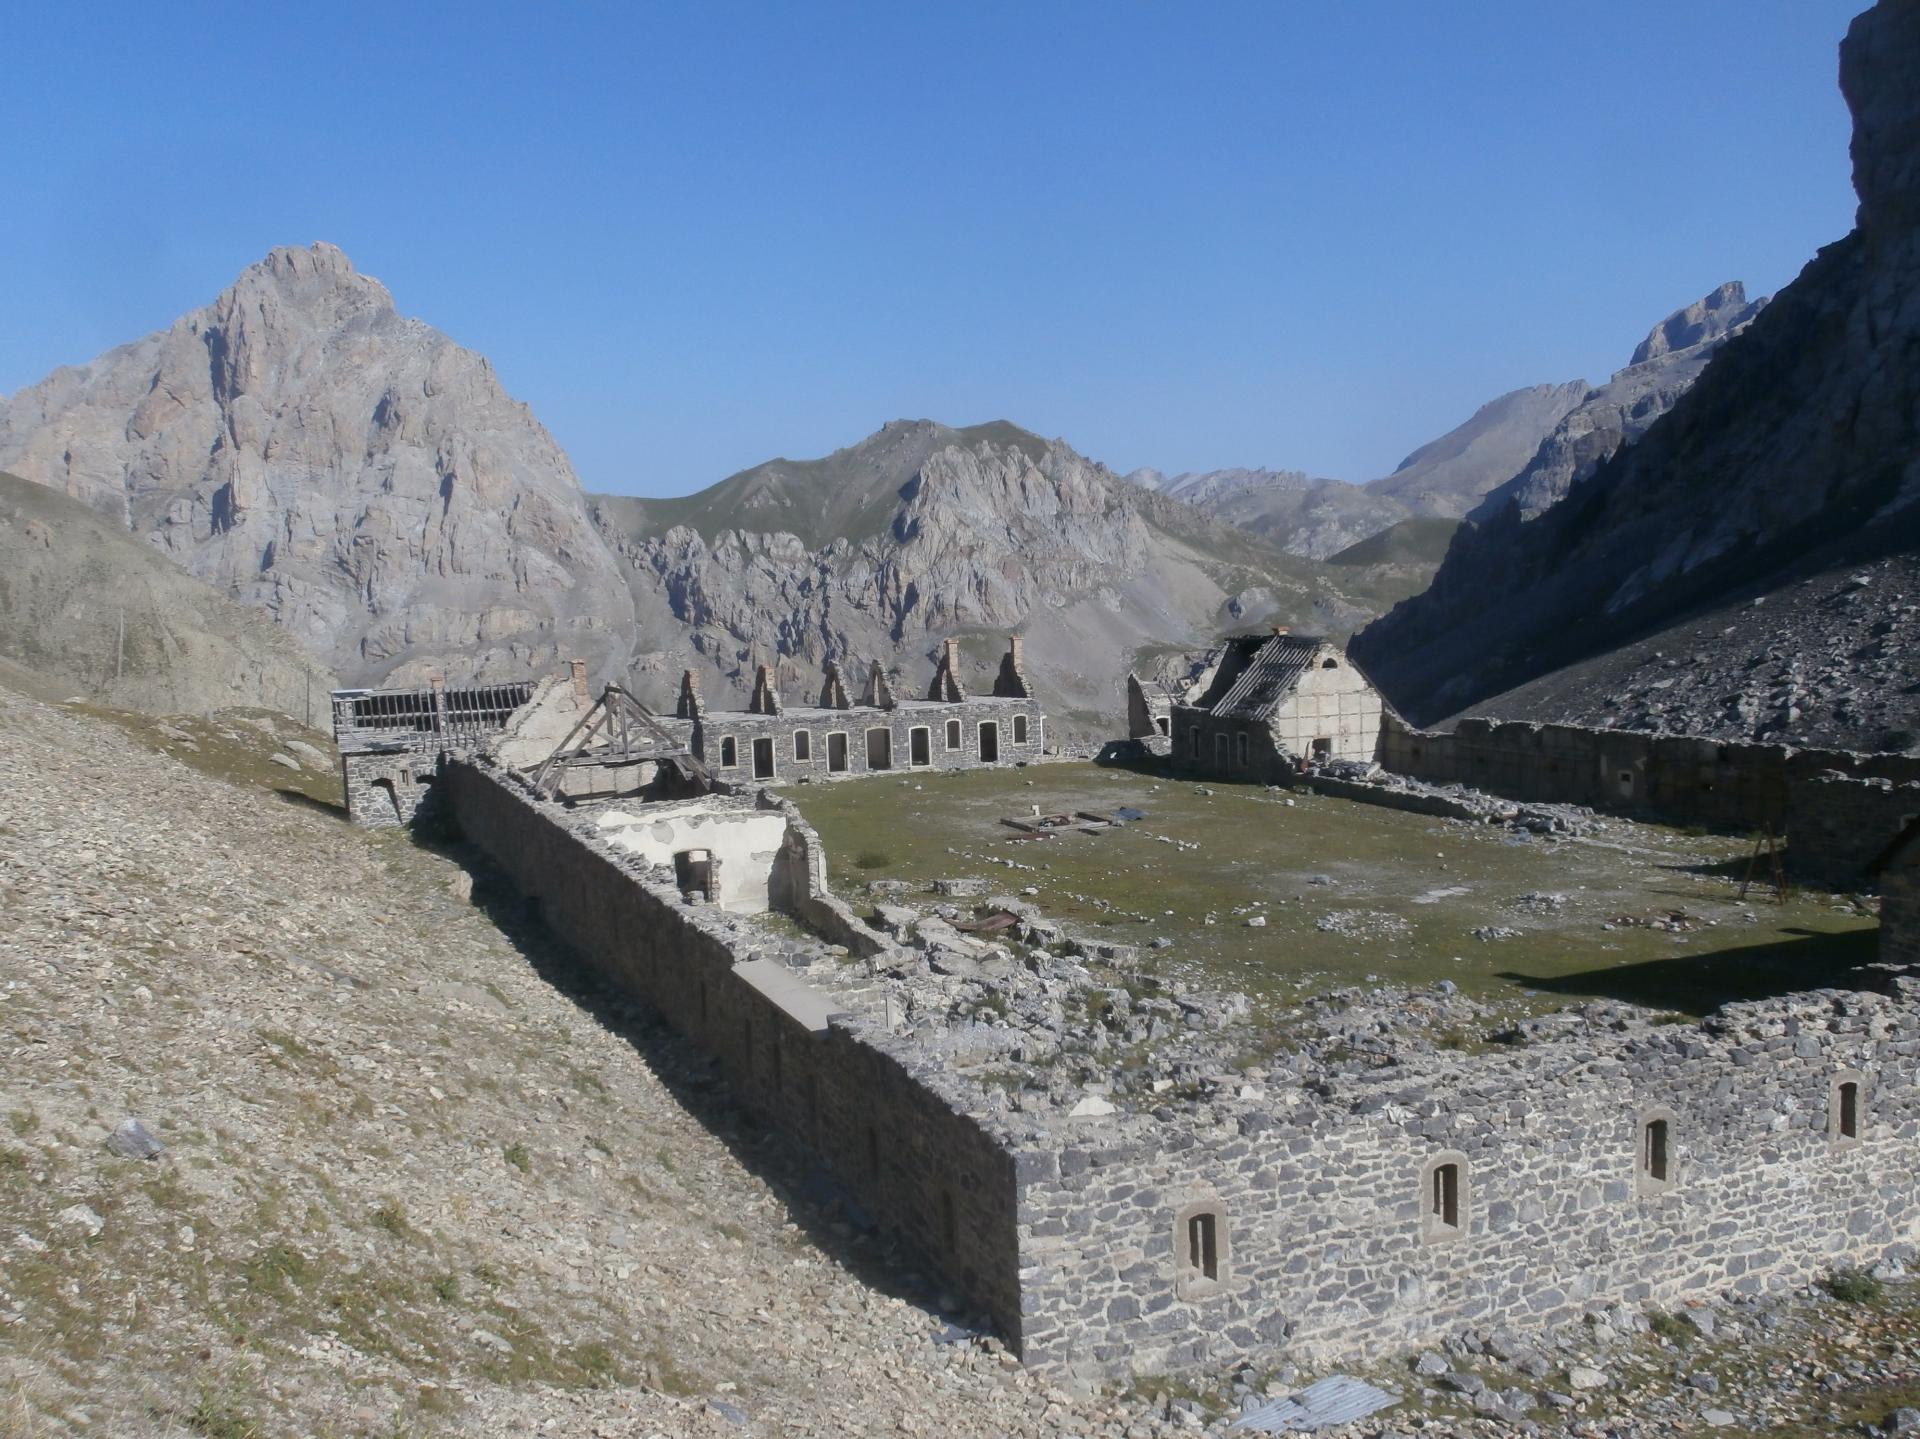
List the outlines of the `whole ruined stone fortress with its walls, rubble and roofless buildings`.
{"type": "Polygon", "coordinates": [[[576,667],[342,692],[334,713],[355,822],[434,795],[559,938],[818,1159],[849,1212],[1046,1372],[1329,1362],[1910,1253],[1920,763],[1421,732],[1331,646],[1229,642],[1167,695],[1165,728],[1129,694],[1140,747],[1171,749],[1177,774],[1509,824],[1588,805],[1770,826],[1811,872],[1880,863],[1889,903],[1872,989],[1697,1024],[1588,1005],[1488,1053],[1396,1043],[1396,1016],[1446,1012],[1440,989],[1327,1001],[1309,1005],[1323,1039],[1223,1082],[1244,997],[1156,984],[1139,955],[983,886],[950,884],[950,916],[862,916],[799,809],[760,788],[1041,761],[1018,642],[991,690],[966,694],[948,644],[920,701],[876,672],[852,703],[829,671],[818,705],[789,709],[762,669],[747,711],[707,709],[687,678],[676,713],[651,715],[616,688],[591,697],[576,667]]]}

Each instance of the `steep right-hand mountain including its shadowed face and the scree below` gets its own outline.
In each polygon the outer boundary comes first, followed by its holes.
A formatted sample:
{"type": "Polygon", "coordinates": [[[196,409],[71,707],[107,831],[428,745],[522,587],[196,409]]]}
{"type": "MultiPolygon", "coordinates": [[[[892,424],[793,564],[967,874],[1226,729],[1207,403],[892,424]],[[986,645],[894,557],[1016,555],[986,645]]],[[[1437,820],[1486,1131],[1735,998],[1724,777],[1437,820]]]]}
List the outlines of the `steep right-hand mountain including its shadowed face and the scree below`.
{"type": "Polygon", "coordinates": [[[1761,313],[1728,296],[1657,332],[1592,430],[1542,451],[1432,588],[1354,640],[1413,717],[1914,744],[1920,6],[1855,19],[1839,77],[1853,232],[1761,313]],[[1740,332],[1688,359],[1724,319],[1740,332]],[[1617,446],[1607,427],[1667,394],[1644,367],[1676,359],[1697,380],[1617,446]]]}

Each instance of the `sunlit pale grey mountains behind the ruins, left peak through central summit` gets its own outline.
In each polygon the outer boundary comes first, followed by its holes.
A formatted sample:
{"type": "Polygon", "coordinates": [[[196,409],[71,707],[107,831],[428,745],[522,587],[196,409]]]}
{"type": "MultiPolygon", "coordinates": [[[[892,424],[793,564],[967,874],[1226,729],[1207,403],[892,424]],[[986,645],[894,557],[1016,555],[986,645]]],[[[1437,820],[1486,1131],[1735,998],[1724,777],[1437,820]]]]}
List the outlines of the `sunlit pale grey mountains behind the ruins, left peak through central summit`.
{"type": "Polygon", "coordinates": [[[1279,621],[1346,634],[1430,563],[1319,565],[1008,423],[897,421],[680,500],[589,498],[488,361],[334,246],[275,250],[163,332],[0,402],[0,467],[60,490],[349,682],[586,657],[664,703],[768,661],[912,688],[1020,630],[1066,728],[1142,651],[1279,621]]]}

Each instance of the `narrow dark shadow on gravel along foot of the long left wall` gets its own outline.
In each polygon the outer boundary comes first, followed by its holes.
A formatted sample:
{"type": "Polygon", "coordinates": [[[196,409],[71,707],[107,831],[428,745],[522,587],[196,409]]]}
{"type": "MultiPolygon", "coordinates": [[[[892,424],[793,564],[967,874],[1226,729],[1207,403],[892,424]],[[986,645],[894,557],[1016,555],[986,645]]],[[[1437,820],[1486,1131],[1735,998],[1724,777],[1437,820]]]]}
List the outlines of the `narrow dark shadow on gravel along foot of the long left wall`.
{"type": "MultiPolygon", "coordinates": [[[[960,1320],[954,1314],[941,1314],[941,1301],[948,1295],[937,1270],[916,1262],[904,1243],[879,1233],[851,1195],[845,1195],[801,1145],[735,1103],[718,1059],[682,1039],[651,1009],[614,991],[576,951],[551,934],[540,922],[538,903],[528,903],[484,851],[426,836],[417,836],[417,841],[472,876],[472,903],[534,972],[603,1030],[626,1041],[680,1107],[774,1191],[785,1216],[822,1255],[868,1289],[924,1310],[929,1326],[939,1316],[966,1329],[991,1331],[983,1316],[960,1320]]],[[[712,1218],[724,1222],[730,1216],[712,1218]]]]}

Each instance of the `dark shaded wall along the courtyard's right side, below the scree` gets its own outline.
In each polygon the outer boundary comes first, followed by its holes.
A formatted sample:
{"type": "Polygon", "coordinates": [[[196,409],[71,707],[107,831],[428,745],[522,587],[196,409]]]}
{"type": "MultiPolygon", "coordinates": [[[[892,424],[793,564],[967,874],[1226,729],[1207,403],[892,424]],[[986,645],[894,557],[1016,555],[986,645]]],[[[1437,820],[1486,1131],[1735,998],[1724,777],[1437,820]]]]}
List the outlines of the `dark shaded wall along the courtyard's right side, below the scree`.
{"type": "Polygon", "coordinates": [[[1789,840],[1789,868],[1828,884],[1860,880],[1860,865],[1899,832],[1895,817],[1905,795],[1882,803],[1814,782],[1828,774],[1895,788],[1920,782],[1914,755],[1482,719],[1461,720],[1448,734],[1415,730],[1392,713],[1380,728],[1379,759],[1398,774],[1507,799],[1592,805],[1680,824],[1770,826],[1789,840]],[[1860,822],[1870,824],[1868,834],[1857,828],[1860,822]]]}

